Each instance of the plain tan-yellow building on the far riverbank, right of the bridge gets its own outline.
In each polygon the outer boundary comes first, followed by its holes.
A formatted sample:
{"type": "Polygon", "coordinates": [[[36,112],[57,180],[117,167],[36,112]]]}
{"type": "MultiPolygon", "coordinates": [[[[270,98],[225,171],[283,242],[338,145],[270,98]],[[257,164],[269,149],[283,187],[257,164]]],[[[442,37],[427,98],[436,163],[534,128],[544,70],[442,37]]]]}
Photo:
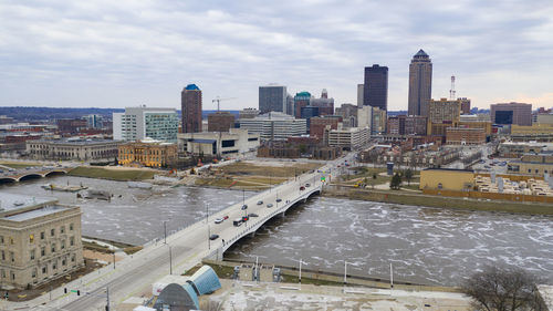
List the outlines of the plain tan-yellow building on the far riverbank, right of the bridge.
{"type": "Polygon", "coordinates": [[[420,170],[419,189],[471,190],[474,172],[469,169],[427,168],[420,170]]]}

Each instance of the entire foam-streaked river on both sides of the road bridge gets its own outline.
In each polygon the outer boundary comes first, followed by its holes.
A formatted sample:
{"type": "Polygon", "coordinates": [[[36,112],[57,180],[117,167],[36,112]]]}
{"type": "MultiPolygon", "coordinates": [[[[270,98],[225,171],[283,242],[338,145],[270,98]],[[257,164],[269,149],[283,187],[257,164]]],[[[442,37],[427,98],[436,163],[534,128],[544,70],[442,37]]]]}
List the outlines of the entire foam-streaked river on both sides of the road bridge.
{"type": "MultiPolygon", "coordinates": [[[[170,232],[252,193],[197,187],[128,188],[126,183],[59,176],[0,185],[0,191],[54,196],[81,206],[83,235],[140,245],[170,232]],[[83,184],[109,190],[112,201],[77,199],[40,186],[83,184]],[[122,195],[122,197],[119,197],[122,195]]],[[[524,267],[553,283],[553,217],[448,210],[373,201],[313,197],[274,218],[253,238],[230,248],[227,259],[344,272],[415,283],[458,284],[484,265],[524,267]]]]}

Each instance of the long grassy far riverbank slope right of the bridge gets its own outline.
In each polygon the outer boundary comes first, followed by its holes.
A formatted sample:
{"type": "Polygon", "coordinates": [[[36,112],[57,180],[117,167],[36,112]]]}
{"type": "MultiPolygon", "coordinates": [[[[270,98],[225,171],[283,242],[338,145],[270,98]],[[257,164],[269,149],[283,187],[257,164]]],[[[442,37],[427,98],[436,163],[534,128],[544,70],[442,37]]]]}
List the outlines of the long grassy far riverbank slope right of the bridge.
{"type": "Polygon", "coordinates": [[[328,186],[324,188],[323,196],[438,208],[446,207],[467,210],[553,215],[553,206],[546,204],[513,203],[503,200],[478,200],[469,198],[429,196],[397,190],[373,190],[328,186]]]}

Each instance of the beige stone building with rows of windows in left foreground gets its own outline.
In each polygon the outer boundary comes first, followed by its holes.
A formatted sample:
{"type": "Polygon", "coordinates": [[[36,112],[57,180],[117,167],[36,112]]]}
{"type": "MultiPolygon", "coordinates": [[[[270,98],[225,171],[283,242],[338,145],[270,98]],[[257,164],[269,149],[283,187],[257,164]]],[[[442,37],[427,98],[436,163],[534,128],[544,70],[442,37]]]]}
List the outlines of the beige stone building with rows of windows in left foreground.
{"type": "Polygon", "coordinates": [[[83,267],[79,207],[6,193],[0,204],[3,287],[39,287],[83,267]]]}

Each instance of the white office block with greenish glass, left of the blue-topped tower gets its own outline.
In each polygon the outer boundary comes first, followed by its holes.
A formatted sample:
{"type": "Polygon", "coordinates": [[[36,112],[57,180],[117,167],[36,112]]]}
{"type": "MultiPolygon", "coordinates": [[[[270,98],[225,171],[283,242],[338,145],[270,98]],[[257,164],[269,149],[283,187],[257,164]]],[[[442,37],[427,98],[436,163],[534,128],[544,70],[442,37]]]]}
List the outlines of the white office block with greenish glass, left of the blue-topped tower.
{"type": "Polygon", "coordinates": [[[169,143],[177,142],[178,115],[175,108],[126,107],[113,114],[113,138],[142,141],[146,137],[169,143]]]}

